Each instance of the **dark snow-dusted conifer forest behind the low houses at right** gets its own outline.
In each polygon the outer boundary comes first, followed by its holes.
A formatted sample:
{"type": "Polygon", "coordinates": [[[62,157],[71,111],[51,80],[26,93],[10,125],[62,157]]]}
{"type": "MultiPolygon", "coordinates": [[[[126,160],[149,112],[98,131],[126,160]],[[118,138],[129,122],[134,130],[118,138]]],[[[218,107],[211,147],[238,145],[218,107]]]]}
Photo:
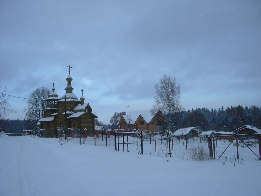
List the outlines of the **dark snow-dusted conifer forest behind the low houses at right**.
{"type": "Polygon", "coordinates": [[[201,126],[203,131],[234,131],[243,125],[261,128],[261,109],[258,106],[243,108],[242,105],[224,109],[196,108],[176,112],[175,129],[201,126]]]}

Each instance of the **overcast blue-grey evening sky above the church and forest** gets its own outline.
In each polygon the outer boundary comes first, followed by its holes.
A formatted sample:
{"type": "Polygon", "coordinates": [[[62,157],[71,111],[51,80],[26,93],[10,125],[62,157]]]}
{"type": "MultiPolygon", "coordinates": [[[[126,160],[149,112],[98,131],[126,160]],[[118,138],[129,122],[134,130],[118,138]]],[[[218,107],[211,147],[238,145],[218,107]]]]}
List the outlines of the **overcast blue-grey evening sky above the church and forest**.
{"type": "MultiPolygon", "coordinates": [[[[261,1],[0,1],[0,82],[73,93],[99,121],[150,110],[164,75],[185,110],[261,105],[261,1]],[[131,106],[127,108],[127,106],[131,106]]],[[[24,119],[26,99],[10,98],[24,119]]]]}

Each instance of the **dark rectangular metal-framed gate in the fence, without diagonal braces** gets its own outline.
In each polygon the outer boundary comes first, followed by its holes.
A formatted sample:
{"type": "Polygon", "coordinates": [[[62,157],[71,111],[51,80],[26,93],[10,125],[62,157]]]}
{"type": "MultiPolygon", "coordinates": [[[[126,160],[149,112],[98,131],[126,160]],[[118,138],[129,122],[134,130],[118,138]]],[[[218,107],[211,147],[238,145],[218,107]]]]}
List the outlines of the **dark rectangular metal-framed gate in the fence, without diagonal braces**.
{"type": "Polygon", "coordinates": [[[127,145],[127,151],[129,152],[129,144],[133,144],[133,145],[140,145],[141,147],[141,154],[143,155],[143,142],[142,142],[142,131],[140,132],[115,132],[115,151],[117,151],[117,144],[118,144],[118,151],[119,151],[119,144],[123,145],[123,152],[124,152],[124,145],[127,145]],[[129,143],[129,136],[131,136],[132,138],[137,138],[137,143],[129,143]],[[125,137],[125,141],[124,141],[124,137],[125,137]],[[127,141],[126,141],[126,137],[127,137],[127,141]],[[122,139],[122,141],[119,141],[122,139]],[[140,139],[139,139],[140,138],[140,139]],[[140,143],[139,143],[140,141],[140,143]],[[125,143],[127,142],[127,143],[125,143]]]}

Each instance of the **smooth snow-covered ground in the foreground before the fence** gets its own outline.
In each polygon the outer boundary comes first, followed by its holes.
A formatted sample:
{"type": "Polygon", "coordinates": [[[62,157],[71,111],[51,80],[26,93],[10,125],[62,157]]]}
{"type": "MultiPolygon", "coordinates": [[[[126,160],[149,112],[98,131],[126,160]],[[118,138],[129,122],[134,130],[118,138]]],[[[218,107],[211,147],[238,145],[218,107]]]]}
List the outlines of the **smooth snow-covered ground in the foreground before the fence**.
{"type": "Polygon", "coordinates": [[[173,154],[167,162],[88,139],[61,147],[55,138],[1,135],[0,195],[261,195],[255,159],[191,161],[173,154]]]}

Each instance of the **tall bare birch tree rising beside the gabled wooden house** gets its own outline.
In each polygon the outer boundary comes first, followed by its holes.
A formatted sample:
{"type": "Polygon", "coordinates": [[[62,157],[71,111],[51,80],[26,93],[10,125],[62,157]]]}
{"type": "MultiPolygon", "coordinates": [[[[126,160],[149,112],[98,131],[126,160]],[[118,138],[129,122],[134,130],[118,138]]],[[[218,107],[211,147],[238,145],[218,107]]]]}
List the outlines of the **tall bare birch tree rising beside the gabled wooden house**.
{"type": "Polygon", "coordinates": [[[176,78],[167,76],[166,74],[155,84],[156,96],[154,97],[154,106],[150,112],[155,115],[159,110],[164,117],[159,117],[159,120],[168,127],[173,126],[175,120],[175,112],[180,112],[183,107],[180,101],[180,84],[176,83],[176,78]]]}

